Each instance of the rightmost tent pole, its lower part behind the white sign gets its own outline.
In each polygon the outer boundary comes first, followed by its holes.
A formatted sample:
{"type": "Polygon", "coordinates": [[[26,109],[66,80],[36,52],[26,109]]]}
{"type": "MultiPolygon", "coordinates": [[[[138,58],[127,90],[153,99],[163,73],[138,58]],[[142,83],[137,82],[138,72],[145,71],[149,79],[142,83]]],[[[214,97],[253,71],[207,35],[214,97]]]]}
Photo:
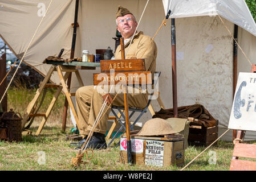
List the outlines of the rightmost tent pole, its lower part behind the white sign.
{"type": "MultiPolygon", "coordinates": [[[[234,38],[237,41],[238,26],[234,24],[234,38]]],[[[233,46],[233,97],[235,96],[235,87],[237,85],[237,43],[234,41],[233,46]]],[[[233,130],[233,140],[237,137],[237,130],[233,130]]]]}

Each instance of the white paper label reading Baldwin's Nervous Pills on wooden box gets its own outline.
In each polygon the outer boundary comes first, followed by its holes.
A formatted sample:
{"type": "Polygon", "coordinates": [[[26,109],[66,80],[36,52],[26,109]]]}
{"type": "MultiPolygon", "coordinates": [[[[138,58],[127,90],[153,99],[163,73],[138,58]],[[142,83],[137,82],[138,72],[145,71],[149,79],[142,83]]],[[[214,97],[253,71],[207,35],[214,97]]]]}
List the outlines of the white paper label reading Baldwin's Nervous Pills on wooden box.
{"type": "Polygon", "coordinates": [[[164,142],[157,140],[146,140],[145,166],[164,165],[164,142]]]}

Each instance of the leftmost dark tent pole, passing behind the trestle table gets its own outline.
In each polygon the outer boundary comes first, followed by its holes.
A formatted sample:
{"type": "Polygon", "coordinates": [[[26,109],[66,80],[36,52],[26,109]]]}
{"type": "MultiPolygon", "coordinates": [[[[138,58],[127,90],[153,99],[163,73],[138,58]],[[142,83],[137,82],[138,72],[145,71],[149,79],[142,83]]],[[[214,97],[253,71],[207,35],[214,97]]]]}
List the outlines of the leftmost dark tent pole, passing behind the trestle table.
{"type": "MultiPolygon", "coordinates": [[[[74,19],[74,31],[73,31],[73,39],[72,39],[72,47],[71,47],[70,59],[74,59],[74,55],[75,55],[76,28],[77,28],[77,24],[78,24],[78,7],[79,7],[79,0],[76,0],[75,19],[74,19]]],[[[67,80],[67,87],[68,87],[68,89],[70,89],[71,76],[72,76],[72,73],[70,73],[70,76],[68,76],[68,80],[67,80]]],[[[68,110],[68,101],[67,101],[67,97],[65,97],[64,113],[63,113],[63,120],[62,120],[62,131],[66,130],[67,110],[68,110]]]]}

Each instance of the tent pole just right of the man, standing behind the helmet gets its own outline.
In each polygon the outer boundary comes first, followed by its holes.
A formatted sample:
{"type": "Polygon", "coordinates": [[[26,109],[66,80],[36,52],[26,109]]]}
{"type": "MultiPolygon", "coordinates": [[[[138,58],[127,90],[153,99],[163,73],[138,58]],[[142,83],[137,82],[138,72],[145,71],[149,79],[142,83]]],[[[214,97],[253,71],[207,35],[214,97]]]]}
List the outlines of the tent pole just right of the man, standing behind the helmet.
{"type": "Polygon", "coordinates": [[[172,93],[173,93],[173,117],[178,117],[178,107],[177,107],[177,70],[176,70],[176,27],[175,19],[172,18],[171,26],[172,34],[172,93]]]}

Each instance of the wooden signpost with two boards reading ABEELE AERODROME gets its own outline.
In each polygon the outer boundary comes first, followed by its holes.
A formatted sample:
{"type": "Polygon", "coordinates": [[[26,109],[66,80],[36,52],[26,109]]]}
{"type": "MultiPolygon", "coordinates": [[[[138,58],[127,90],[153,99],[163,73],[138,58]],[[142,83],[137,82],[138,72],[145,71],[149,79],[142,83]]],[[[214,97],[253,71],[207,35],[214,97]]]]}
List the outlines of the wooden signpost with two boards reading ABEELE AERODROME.
{"type": "Polygon", "coordinates": [[[127,162],[132,164],[132,144],[129,127],[129,111],[127,98],[127,85],[152,84],[151,72],[145,71],[144,59],[125,59],[124,40],[120,39],[121,60],[101,60],[101,73],[94,74],[94,85],[123,86],[125,127],[127,133],[127,162]],[[113,72],[111,72],[113,71],[113,72]]]}

